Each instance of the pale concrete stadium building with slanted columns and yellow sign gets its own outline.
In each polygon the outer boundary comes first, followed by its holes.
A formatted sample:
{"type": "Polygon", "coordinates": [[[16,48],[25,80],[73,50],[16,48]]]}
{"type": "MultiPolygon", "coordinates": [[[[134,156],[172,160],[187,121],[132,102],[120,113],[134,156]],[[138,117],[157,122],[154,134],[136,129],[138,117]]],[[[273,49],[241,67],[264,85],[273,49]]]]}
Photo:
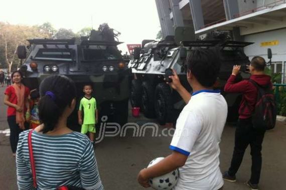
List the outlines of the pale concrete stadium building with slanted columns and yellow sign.
{"type": "Polygon", "coordinates": [[[177,26],[194,28],[198,37],[212,30],[231,30],[234,40],[250,41],[244,47],[251,59],[267,60],[272,49],[272,73],[286,83],[286,0],[156,0],[163,36],[177,26]]]}

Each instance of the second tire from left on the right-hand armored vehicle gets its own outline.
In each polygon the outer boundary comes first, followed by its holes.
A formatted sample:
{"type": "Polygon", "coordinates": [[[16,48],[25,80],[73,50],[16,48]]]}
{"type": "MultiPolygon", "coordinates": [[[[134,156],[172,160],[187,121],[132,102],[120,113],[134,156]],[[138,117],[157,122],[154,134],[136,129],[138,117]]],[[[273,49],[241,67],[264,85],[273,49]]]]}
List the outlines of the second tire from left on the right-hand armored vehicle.
{"type": "Polygon", "coordinates": [[[155,117],[154,89],[150,82],[142,82],[141,108],[147,118],[155,117]]]}

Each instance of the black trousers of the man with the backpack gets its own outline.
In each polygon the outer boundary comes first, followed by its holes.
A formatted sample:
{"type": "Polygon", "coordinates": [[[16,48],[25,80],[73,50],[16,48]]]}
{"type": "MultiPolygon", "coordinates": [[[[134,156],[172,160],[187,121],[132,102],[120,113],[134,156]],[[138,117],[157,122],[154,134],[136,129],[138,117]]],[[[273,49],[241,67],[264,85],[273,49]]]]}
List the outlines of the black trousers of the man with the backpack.
{"type": "Polygon", "coordinates": [[[262,157],[262,141],[265,130],[257,130],[253,128],[251,119],[239,119],[235,130],[234,150],[231,160],[231,165],[228,169],[228,174],[234,176],[241,164],[244,152],[248,144],[251,148],[251,177],[252,184],[258,184],[260,178],[262,157]]]}

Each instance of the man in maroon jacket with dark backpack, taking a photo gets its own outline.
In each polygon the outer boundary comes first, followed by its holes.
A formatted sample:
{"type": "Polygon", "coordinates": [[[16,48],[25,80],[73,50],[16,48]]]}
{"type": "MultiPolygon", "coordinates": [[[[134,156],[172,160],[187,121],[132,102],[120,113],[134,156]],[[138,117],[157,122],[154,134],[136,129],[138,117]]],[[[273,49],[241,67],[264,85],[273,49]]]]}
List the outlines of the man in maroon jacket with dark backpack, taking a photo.
{"type": "Polygon", "coordinates": [[[234,65],[232,74],[227,80],[224,91],[242,93],[239,107],[239,119],[235,131],[235,144],[231,165],[225,171],[223,178],[235,182],[235,174],[241,164],[248,144],[251,148],[252,166],[251,177],[247,185],[251,189],[258,189],[262,157],[262,141],[266,129],[273,128],[276,119],[276,105],[272,93],[272,83],[269,75],[264,73],[265,60],[260,56],[251,59],[248,80],[235,83],[240,65],[234,65]]]}

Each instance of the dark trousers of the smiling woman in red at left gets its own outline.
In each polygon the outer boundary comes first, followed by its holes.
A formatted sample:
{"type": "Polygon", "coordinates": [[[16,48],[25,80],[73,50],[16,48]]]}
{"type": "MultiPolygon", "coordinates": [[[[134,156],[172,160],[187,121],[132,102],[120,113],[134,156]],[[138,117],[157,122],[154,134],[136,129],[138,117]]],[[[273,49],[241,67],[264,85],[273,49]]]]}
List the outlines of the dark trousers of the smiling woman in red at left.
{"type": "Polygon", "coordinates": [[[20,129],[19,125],[16,123],[16,115],[8,116],[7,120],[10,127],[10,145],[12,148],[12,152],[16,153],[19,134],[23,130],[20,129]]]}

